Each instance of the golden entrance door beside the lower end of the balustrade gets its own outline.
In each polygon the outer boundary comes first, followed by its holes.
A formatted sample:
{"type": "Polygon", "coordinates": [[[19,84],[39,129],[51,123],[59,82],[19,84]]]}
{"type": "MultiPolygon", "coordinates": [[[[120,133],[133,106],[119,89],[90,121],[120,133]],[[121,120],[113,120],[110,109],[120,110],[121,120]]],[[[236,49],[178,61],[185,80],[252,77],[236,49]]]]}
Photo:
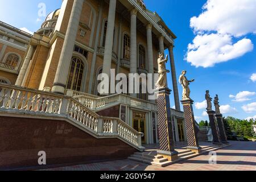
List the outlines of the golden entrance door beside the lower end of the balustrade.
{"type": "Polygon", "coordinates": [[[146,116],[142,113],[133,113],[133,129],[141,132],[144,136],[141,138],[142,143],[146,143],[146,116]]]}

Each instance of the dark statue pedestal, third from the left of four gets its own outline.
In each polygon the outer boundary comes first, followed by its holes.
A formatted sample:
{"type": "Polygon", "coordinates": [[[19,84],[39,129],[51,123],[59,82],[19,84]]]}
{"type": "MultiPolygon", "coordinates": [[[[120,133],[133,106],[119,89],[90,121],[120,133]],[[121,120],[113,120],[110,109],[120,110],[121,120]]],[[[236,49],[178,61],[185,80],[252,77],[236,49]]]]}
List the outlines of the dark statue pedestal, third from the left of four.
{"type": "Polygon", "coordinates": [[[217,119],[215,117],[216,112],[214,110],[208,110],[207,113],[209,115],[210,128],[212,129],[213,144],[222,144],[217,119]]]}

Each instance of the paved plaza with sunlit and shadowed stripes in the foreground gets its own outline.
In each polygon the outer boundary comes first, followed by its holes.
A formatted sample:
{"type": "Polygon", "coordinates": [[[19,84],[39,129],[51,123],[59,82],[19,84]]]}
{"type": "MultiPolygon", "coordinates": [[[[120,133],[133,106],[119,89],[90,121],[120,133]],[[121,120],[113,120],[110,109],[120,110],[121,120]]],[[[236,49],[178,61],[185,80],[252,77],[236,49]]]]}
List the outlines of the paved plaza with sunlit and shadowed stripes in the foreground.
{"type": "Polygon", "coordinates": [[[184,160],[168,167],[150,166],[133,160],[59,167],[53,171],[256,171],[256,142],[230,142],[217,150],[217,164],[209,164],[208,154],[184,160]]]}

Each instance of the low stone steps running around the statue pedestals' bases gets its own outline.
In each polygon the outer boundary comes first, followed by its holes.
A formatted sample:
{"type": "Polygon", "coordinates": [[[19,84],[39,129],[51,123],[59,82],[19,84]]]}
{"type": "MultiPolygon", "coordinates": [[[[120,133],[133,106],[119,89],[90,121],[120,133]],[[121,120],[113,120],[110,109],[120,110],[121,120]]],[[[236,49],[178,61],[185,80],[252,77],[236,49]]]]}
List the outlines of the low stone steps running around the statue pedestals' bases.
{"type": "Polygon", "coordinates": [[[177,152],[179,152],[179,154],[178,154],[179,159],[177,159],[173,162],[170,162],[170,161],[168,161],[167,158],[164,158],[163,156],[158,155],[157,150],[145,150],[144,152],[135,152],[128,159],[134,160],[137,162],[154,165],[154,166],[166,167],[171,164],[180,162],[182,160],[195,158],[196,156],[206,154],[207,152],[218,150],[222,147],[226,147],[226,145],[217,146],[217,145],[213,145],[213,144],[208,144],[208,145],[201,146],[201,147],[202,147],[202,150],[201,150],[200,154],[196,154],[196,152],[187,150],[185,147],[180,147],[180,148],[175,149],[177,152]]]}

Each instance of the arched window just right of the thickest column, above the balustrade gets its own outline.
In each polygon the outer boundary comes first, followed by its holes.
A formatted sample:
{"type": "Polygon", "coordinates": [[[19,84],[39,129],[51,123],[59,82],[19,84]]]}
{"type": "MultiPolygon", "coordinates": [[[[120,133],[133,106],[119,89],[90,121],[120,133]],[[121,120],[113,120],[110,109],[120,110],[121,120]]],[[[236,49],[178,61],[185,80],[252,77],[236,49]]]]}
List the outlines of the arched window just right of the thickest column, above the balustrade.
{"type": "Polygon", "coordinates": [[[81,91],[82,77],[84,75],[84,63],[77,58],[73,57],[71,68],[69,70],[67,89],[81,91]]]}

